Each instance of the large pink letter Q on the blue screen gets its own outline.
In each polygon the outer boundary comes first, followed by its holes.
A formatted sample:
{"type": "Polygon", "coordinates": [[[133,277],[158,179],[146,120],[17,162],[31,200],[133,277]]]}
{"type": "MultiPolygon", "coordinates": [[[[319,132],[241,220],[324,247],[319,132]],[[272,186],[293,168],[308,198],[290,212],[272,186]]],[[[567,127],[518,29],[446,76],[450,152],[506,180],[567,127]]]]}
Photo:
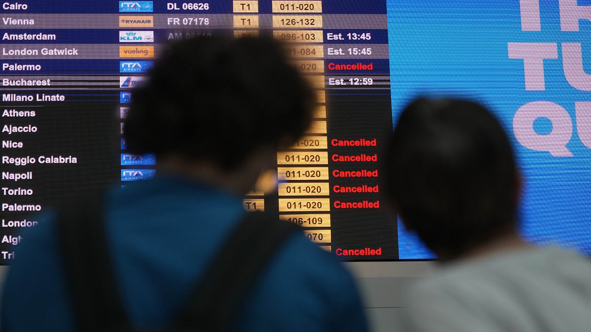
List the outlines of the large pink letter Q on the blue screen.
{"type": "Polygon", "coordinates": [[[569,112],[556,103],[531,102],[521,106],[513,118],[513,132],[525,148],[547,151],[554,157],[573,157],[566,147],[573,135],[573,122],[569,112]],[[550,119],[550,134],[540,135],[534,131],[534,120],[537,118],[550,119]]]}

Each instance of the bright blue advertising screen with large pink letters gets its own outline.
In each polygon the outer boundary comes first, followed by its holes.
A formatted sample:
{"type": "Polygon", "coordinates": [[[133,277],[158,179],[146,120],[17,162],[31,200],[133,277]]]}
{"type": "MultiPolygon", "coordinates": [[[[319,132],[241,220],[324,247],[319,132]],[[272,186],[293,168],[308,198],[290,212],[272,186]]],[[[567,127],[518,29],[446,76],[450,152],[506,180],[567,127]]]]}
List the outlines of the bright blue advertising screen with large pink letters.
{"type": "Polygon", "coordinates": [[[522,234],[591,254],[591,1],[388,1],[388,36],[394,119],[421,94],[484,103],[524,177],[522,234]]]}

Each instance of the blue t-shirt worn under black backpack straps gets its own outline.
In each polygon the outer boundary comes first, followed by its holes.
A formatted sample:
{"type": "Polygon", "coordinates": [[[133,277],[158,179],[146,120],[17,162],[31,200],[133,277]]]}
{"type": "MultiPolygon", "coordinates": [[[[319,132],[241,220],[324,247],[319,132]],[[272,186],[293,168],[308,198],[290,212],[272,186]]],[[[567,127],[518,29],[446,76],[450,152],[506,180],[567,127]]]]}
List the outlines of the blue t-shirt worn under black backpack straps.
{"type": "MultiPolygon", "coordinates": [[[[165,328],[204,268],[242,219],[240,197],[174,177],[109,191],[108,244],[128,316],[138,330],[165,328]]],[[[47,216],[19,245],[2,294],[2,331],[74,331],[58,251],[47,216]]],[[[348,271],[297,233],[262,272],[234,331],[366,331],[348,271]]]]}

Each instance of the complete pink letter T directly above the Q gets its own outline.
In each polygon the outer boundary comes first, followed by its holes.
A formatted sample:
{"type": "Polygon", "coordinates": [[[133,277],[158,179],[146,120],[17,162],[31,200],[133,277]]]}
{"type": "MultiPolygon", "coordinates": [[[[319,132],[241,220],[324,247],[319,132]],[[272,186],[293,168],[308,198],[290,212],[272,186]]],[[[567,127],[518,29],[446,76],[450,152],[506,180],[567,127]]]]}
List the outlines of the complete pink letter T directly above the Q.
{"type": "Polygon", "coordinates": [[[545,90],[544,59],[558,58],[556,43],[507,43],[509,58],[523,59],[525,90],[545,90]]]}

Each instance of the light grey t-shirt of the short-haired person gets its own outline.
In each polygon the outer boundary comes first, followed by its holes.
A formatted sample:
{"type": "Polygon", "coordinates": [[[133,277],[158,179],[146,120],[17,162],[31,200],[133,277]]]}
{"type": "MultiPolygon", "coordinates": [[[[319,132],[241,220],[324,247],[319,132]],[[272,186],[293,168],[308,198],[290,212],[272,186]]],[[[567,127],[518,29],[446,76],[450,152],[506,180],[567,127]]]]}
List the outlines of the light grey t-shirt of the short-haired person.
{"type": "Polygon", "coordinates": [[[591,331],[591,260],[554,247],[446,266],[417,282],[400,331],[591,331]]]}

